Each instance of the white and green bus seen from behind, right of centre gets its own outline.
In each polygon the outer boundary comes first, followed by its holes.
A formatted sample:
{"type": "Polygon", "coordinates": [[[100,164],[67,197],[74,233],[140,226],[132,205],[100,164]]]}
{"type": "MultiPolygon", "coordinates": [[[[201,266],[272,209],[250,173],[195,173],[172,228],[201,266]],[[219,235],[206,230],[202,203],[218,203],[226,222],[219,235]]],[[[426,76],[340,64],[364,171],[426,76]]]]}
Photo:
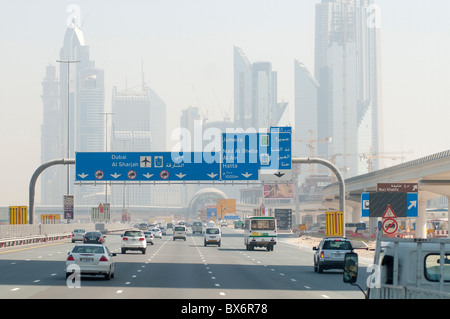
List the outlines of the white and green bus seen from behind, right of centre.
{"type": "Polygon", "coordinates": [[[244,244],[247,250],[265,247],[273,251],[277,244],[277,220],[269,216],[251,216],[244,223],[244,244]]]}

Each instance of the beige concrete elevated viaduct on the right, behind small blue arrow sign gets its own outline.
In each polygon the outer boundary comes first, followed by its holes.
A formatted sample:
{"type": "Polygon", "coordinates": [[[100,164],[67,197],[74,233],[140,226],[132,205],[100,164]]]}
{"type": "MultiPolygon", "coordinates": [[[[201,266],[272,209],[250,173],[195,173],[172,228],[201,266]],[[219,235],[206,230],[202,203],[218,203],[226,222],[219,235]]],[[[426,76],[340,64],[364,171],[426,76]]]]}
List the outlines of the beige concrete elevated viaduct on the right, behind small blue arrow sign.
{"type": "MultiPolygon", "coordinates": [[[[440,196],[447,196],[450,199],[450,150],[346,179],[346,210],[347,216],[351,216],[346,222],[361,220],[361,194],[376,192],[378,183],[418,184],[419,203],[415,237],[426,238],[427,200],[440,196]]],[[[322,200],[327,207],[338,207],[339,184],[326,186],[323,189],[322,200]]],[[[376,218],[371,218],[371,224],[372,219],[376,218]]]]}

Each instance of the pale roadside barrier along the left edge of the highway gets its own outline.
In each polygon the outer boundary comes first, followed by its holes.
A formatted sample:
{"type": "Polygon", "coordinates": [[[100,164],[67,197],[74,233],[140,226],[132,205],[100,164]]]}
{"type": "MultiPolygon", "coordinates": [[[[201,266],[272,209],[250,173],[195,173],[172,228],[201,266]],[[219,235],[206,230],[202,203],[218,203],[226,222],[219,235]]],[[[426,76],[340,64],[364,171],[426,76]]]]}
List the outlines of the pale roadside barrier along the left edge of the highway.
{"type": "Polygon", "coordinates": [[[129,224],[38,224],[0,225],[0,248],[31,243],[48,242],[72,237],[72,231],[83,228],[104,233],[124,231],[129,224]]]}

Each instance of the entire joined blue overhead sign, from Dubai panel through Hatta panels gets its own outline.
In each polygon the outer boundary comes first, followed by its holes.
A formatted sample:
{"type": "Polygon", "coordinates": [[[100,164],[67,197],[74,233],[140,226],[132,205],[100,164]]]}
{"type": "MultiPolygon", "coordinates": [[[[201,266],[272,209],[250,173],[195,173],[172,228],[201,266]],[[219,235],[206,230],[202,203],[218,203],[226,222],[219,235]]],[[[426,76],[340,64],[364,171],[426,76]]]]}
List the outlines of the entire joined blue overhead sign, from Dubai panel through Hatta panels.
{"type": "Polygon", "coordinates": [[[287,181],[290,127],[223,133],[219,152],[77,152],[77,182],[287,181]]]}

